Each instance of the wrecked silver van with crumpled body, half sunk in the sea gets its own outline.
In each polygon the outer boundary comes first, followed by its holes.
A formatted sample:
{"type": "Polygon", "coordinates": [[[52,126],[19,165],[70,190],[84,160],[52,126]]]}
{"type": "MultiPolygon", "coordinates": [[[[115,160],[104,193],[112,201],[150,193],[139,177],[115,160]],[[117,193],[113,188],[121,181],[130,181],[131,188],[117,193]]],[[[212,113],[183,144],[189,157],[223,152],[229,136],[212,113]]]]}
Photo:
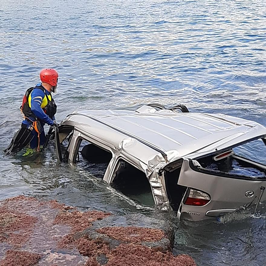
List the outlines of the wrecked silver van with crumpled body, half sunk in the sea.
{"type": "Polygon", "coordinates": [[[74,112],[58,132],[70,164],[80,155],[88,171],[104,164],[106,183],[131,180],[136,193],[147,188],[153,204],[179,219],[210,219],[266,200],[266,128],[256,122],[150,104],[74,112]]]}

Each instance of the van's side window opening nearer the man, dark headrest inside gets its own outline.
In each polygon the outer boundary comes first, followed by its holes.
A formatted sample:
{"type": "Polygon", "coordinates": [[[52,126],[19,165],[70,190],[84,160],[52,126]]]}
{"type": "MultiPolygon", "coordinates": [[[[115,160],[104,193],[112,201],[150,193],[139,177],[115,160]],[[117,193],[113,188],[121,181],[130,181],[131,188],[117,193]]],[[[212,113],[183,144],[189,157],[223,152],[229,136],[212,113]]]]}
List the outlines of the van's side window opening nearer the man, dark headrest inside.
{"type": "Polygon", "coordinates": [[[94,177],[103,178],[112,159],[112,153],[85,139],[78,141],[76,164],[94,177]]]}

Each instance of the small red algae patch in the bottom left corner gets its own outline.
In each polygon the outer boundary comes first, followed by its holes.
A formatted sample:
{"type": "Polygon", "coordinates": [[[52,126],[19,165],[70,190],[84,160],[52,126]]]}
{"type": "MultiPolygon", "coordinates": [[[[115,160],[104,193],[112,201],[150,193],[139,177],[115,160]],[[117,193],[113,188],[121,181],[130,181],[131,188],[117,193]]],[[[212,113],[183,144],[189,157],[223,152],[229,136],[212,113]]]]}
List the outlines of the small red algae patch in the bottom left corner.
{"type": "Polygon", "coordinates": [[[38,263],[41,256],[28,251],[8,250],[0,266],[33,266],[38,263]]]}

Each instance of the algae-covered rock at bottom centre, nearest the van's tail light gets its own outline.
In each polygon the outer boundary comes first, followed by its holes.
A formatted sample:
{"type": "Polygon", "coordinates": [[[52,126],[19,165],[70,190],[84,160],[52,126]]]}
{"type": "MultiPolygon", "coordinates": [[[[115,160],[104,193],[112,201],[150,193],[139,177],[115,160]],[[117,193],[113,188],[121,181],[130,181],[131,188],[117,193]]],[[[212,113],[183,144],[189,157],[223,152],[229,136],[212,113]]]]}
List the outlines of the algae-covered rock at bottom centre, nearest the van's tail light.
{"type": "Polygon", "coordinates": [[[109,216],[65,238],[88,257],[85,266],[196,266],[188,255],[174,256],[168,222],[142,214],[109,216]]]}

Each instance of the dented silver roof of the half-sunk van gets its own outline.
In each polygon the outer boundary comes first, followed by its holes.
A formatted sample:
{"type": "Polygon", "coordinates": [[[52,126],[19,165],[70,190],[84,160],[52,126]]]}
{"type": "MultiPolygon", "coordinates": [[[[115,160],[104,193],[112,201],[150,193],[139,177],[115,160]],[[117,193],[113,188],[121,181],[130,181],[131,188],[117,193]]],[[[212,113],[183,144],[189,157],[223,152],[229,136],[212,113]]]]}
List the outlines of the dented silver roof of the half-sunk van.
{"type": "MultiPolygon", "coordinates": [[[[69,115],[62,124],[74,125],[147,163],[159,155],[164,164],[181,157],[222,150],[266,136],[256,122],[223,114],[178,113],[144,105],[136,111],[86,110],[69,115]]],[[[161,160],[159,160],[161,161],[161,160]]]]}

